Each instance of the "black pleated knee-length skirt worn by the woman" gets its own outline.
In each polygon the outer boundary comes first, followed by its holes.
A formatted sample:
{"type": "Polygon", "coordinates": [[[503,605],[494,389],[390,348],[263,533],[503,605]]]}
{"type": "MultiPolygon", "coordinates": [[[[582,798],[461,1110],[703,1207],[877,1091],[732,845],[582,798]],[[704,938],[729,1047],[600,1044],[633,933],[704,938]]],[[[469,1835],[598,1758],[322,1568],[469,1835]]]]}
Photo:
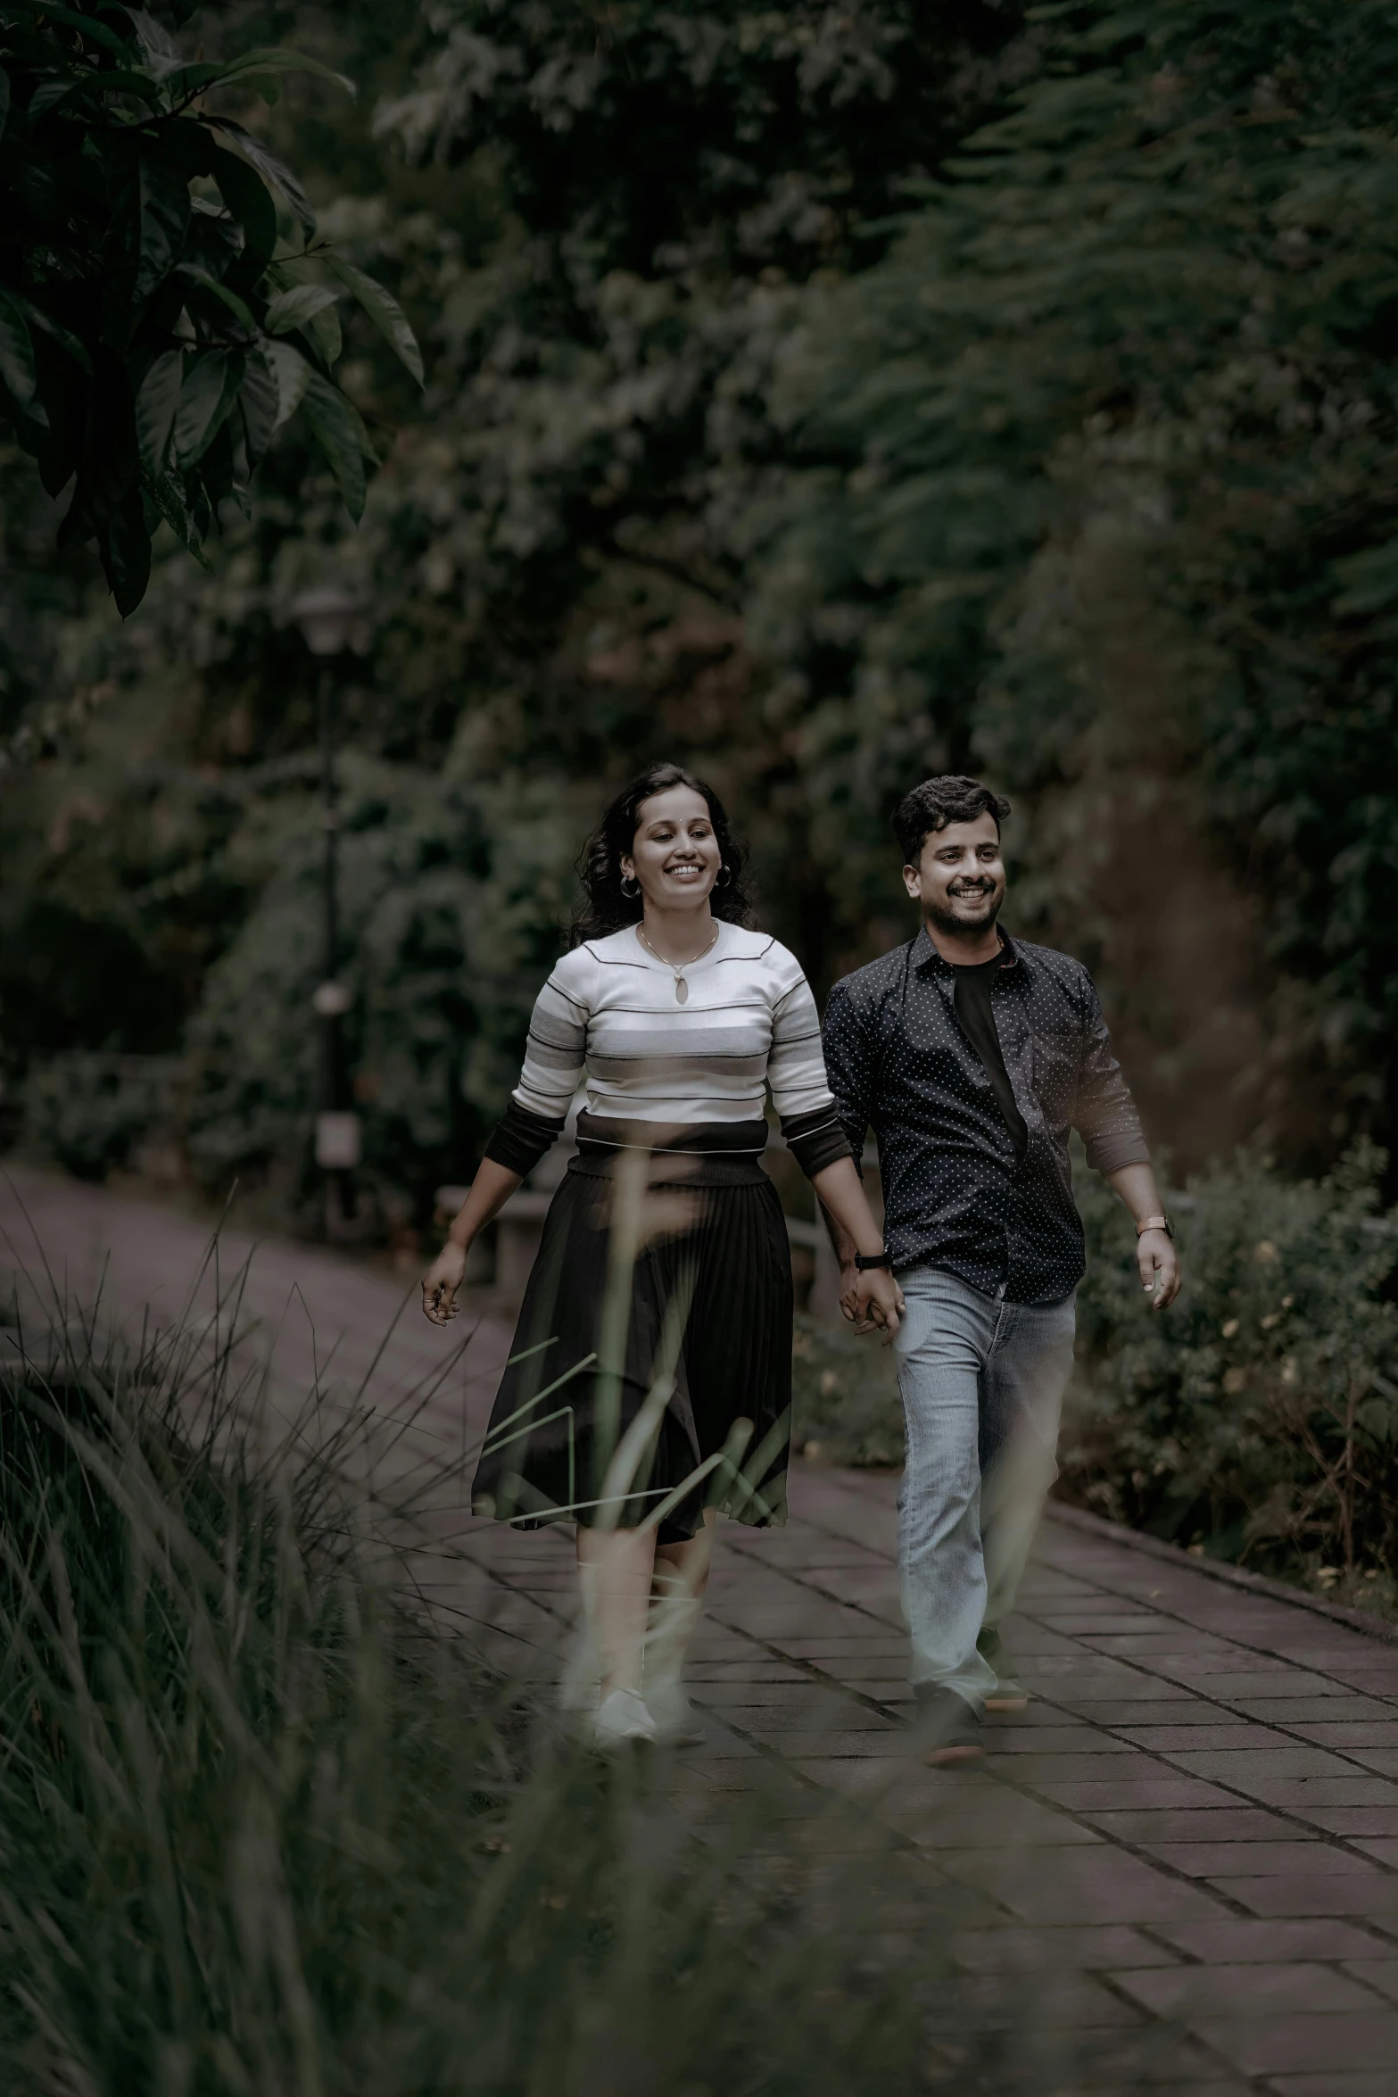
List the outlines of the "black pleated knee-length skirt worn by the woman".
{"type": "Polygon", "coordinates": [[[650,1520],[660,1543],[706,1506],[784,1522],[790,1342],[786,1218],[755,1155],[589,1147],[545,1218],[476,1512],[650,1520]]]}

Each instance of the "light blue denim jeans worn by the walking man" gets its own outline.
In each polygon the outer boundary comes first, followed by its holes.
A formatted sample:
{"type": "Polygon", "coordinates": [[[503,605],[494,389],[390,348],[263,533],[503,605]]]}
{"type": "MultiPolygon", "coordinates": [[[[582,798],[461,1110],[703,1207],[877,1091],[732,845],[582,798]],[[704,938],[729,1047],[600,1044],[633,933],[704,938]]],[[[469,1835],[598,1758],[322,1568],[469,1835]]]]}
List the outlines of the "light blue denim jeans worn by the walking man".
{"type": "Polygon", "coordinates": [[[897,1497],[914,1684],[970,1705],[996,1686],[981,1627],[1014,1606],[1073,1367],[1073,1298],[1006,1304],[939,1267],[899,1273],[905,1464],[897,1497]]]}

